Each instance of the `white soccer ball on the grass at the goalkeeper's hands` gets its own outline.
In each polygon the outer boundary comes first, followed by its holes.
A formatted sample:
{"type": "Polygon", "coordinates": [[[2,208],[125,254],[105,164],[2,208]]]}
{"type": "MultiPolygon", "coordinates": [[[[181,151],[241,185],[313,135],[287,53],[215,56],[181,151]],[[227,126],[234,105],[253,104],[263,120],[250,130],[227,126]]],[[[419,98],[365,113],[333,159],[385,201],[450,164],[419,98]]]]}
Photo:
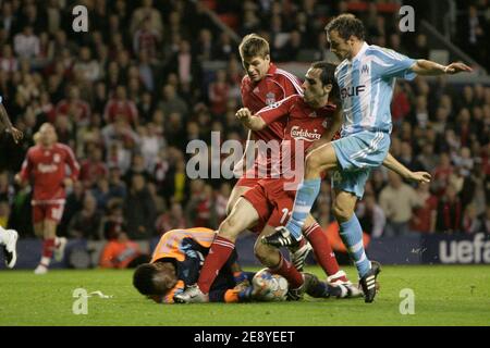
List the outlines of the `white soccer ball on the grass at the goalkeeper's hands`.
{"type": "Polygon", "coordinates": [[[283,301],[287,294],[287,281],[268,269],[258,271],[252,279],[255,298],[259,301],[283,301]]]}

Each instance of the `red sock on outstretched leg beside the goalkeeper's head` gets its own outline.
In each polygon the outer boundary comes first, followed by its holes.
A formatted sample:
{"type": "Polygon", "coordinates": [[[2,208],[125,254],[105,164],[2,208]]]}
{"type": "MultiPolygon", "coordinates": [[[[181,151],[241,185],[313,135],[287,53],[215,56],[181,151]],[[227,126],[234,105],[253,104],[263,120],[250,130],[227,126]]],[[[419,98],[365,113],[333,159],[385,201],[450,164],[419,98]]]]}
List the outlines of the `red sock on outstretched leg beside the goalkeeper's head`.
{"type": "Polygon", "coordinates": [[[197,285],[204,294],[209,293],[218,273],[230,258],[234,248],[235,244],[229,239],[221,236],[216,237],[200,270],[199,279],[197,281],[197,285]]]}

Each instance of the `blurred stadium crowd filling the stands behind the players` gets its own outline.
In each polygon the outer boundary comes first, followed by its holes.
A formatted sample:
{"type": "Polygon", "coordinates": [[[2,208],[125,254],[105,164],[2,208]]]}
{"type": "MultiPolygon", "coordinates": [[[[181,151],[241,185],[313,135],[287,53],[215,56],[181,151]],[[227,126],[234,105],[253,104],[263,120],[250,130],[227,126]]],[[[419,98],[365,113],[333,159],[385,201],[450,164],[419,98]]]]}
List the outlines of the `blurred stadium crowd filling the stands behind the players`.
{"type": "MultiPolygon", "coordinates": [[[[191,181],[186,145],[209,144],[212,130],[222,141],[246,139],[235,121],[243,76],[237,44],[204,13],[208,1],[82,1],[89,10],[88,33],[73,32],[71,2],[1,2],[0,95],[26,138],[22,146],[0,138],[0,224],[32,235],[30,191],[13,176],[34,134],[51,122],[82,165],[61,235],[100,240],[124,231],[131,239],[148,239],[176,227],[216,228],[233,182],[191,181]]],[[[405,40],[393,13],[380,7],[390,3],[358,10],[368,42],[427,58],[427,38],[405,40]]],[[[241,13],[236,33],[268,38],[278,62],[308,52],[324,58],[324,24],[350,10],[346,1],[328,7],[315,0],[216,7],[218,13],[241,13]]],[[[391,153],[433,181],[413,187],[376,171],[357,207],[364,229],[373,237],[490,234],[490,86],[399,82],[392,114],[391,153]]],[[[326,181],[315,207],[322,226],[333,220],[330,203],[326,181]]]]}

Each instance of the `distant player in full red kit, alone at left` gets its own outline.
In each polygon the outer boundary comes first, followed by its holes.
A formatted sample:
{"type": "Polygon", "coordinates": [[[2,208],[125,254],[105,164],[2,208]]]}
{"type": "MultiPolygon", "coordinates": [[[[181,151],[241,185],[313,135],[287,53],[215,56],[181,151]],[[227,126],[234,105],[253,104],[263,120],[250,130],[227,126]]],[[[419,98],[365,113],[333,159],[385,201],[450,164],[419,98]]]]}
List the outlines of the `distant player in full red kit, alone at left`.
{"type": "Polygon", "coordinates": [[[44,239],[42,257],[36,274],[48,272],[51,258],[63,258],[66,238],[57,237],[57,226],[63,215],[65,188],[77,179],[79,165],[72,149],[58,142],[54,127],[45,123],[39,128],[38,144],[27,151],[15,179],[33,186],[34,232],[44,239]],[[70,173],[66,173],[66,165],[70,173]]]}

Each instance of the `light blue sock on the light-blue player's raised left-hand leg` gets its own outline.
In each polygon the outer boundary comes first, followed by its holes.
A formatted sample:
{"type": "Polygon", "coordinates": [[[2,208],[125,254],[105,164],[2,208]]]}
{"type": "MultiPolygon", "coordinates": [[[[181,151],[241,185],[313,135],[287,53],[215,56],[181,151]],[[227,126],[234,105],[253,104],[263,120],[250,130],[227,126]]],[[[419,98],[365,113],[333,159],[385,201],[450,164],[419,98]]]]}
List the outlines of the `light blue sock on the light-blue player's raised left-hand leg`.
{"type": "Polygon", "coordinates": [[[302,237],[303,225],[320,192],[320,185],[321,178],[311,178],[303,181],[298,186],[293,214],[286,225],[287,231],[291,232],[296,240],[302,237]]]}

